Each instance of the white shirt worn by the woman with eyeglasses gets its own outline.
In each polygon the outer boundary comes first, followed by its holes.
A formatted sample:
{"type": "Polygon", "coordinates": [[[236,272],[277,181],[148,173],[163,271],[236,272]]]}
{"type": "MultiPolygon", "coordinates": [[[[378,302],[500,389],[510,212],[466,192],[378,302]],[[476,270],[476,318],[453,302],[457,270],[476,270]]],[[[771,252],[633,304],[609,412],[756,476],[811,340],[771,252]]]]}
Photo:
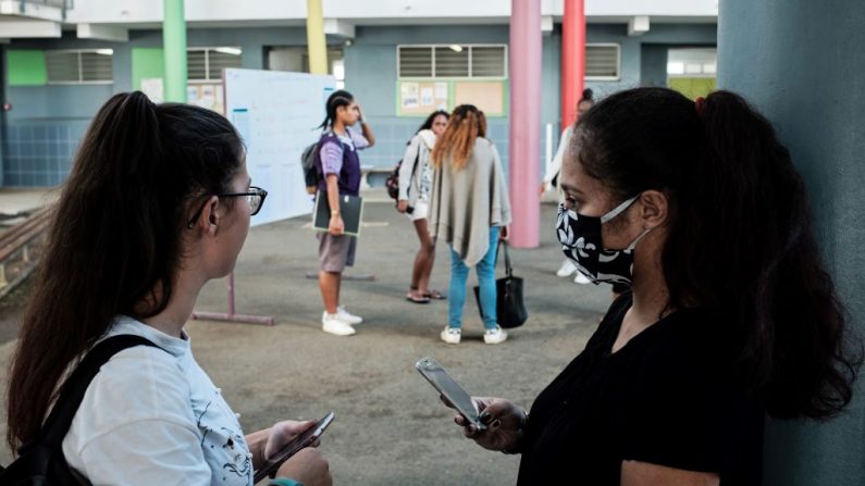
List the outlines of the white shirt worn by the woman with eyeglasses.
{"type": "Polygon", "coordinates": [[[239,415],[196,363],[188,336],[126,316],[108,336],[116,334],[162,349],[125,349],[102,366],[63,439],[70,466],[95,485],[251,485],[239,415]]]}

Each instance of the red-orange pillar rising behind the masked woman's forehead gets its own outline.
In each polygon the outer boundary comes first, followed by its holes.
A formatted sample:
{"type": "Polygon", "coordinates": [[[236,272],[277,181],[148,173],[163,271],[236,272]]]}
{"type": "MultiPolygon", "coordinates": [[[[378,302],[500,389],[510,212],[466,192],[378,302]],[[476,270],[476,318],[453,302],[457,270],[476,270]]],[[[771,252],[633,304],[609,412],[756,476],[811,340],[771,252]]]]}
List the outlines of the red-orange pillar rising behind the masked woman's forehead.
{"type": "Polygon", "coordinates": [[[585,87],[585,2],[565,0],[561,20],[561,126],[577,120],[577,103],[585,87]]]}

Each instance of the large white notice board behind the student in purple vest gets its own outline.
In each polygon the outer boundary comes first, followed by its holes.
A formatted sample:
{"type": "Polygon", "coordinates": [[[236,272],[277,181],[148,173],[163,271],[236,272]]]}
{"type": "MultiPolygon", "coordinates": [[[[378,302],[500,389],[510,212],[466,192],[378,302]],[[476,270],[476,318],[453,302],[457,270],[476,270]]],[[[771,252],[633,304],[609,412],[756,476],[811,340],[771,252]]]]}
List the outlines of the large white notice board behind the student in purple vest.
{"type": "Polygon", "coordinates": [[[312,213],[300,153],[319,139],[333,76],[279,71],[225,70],[225,116],[246,144],[252,185],[268,191],[252,225],[312,213]]]}

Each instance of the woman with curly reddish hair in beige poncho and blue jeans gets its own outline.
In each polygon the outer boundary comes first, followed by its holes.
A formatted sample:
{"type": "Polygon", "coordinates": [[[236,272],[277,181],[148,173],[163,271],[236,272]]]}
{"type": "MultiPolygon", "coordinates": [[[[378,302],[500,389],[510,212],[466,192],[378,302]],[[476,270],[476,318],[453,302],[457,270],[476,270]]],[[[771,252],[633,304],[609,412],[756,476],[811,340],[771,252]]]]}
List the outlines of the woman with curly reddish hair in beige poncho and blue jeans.
{"type": "Polygon", "coordinates": [[[496,323],[495,259],[498,239],[507,238],[510,201],[498,151],[484,138],[485,133],[483,112],[461,104],[432,151],[430,234],[450,247],[448,325],[441,336],[452,345],[460,340],[471,266],[480,285],[483,340],[496,345],[507,339],[496,323]]]}

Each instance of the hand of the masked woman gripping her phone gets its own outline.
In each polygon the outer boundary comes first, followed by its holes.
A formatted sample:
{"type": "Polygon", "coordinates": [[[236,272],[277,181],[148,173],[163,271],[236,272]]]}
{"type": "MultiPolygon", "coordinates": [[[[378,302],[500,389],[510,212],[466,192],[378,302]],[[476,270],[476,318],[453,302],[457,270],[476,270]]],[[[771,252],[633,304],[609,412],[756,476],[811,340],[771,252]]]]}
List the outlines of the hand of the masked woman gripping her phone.
{"type": "MultiPolygon", "coordinates": [[[[516,450],[526,427],[526,412],[504,398],[472,397],[471,399],[478,404],[481,423],[486,425],[486,428],[478,431],[465,416],[457,413],[454,422],[464,427],[466,437],[473,439],[484,449],[516,450]]],[[[443,398],[443,401],[452,407],[446,399],[443,398]]]]}

